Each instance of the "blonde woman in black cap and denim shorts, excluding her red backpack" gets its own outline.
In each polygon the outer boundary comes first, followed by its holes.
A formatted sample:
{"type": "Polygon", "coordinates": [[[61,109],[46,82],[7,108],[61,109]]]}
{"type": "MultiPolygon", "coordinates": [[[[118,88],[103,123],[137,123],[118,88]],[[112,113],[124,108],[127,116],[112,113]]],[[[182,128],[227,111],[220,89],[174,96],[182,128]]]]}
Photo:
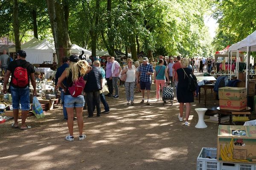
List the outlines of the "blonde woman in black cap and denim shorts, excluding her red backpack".
{"type": "Polygon", "coordinates": [[[82,117],[83,107],[84,107],[84,96],[83,92],[77,97],[70,95],[69,87],[72,86],[73,82],[83,77],[87,74],[91,67],[85,60],[80,60],[77,55],[71,55],[69,57],[69,67],[61,74],[61,77],[58,79],[58,86],[61,87],[64,91],[64,106],[67,110],[67,127],[69,130],[69,136],[66,136],[66,140],[74,141],[73,136],[73,118],[74,118],[74,108],[76,109],[77,124],[79,129],[79,141],[84,140],[86,136],[83,134],[84,121],[82,117]],[[67,87],[62,83],[64,79],[67,80],[67,87]]]}

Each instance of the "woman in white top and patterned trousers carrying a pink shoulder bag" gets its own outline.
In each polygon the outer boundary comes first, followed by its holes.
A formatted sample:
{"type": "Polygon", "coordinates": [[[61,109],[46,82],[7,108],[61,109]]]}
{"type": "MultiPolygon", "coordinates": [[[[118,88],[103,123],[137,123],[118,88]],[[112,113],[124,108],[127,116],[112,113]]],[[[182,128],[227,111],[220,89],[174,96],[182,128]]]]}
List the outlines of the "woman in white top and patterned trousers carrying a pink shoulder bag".
{"type": "Polygon", "coordinates": [[[132,59],[128,58],[126,60],[127,64],[123,68],[121,74],[126,74],[125,80],[125,94],[126,99],[128,101],[127,105],[134,105],[134,86],[135,86],[135,79],[136,79],[136,68],[132,65],[132,59]]]}

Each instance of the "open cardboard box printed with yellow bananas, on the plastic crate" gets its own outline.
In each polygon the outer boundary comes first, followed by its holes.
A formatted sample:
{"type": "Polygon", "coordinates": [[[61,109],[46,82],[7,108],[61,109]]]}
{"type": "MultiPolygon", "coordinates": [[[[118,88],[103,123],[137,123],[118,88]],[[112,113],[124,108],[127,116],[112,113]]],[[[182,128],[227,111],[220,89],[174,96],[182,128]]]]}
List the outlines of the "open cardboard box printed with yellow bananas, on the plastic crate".
{"type": "Polygon", "coordinates": [[[219,125],[217,160],[256,164],[256,126],[219,125]]]}

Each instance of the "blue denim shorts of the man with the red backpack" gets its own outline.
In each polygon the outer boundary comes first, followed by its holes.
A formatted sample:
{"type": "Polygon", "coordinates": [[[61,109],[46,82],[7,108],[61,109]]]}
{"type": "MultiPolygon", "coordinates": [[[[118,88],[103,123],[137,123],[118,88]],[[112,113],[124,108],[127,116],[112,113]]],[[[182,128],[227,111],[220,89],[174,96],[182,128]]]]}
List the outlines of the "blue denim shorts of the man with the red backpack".
{"type": "Polygon", "coordinates": [[[12,108],[19,109],[21,105],[22,111],[30,110],[29,86],[26,88],[14,88],[11,85],[12,108]]]}

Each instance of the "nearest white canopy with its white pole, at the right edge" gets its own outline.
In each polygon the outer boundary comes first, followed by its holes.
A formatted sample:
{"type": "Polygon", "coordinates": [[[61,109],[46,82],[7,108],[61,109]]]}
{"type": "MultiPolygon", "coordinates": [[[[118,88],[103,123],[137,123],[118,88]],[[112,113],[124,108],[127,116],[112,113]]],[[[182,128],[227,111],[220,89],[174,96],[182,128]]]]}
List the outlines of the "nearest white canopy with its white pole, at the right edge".
{"type": "MultiPolygon", "coordinates": [[[[236,54],[239,53],[239,51],[247,51],[247,57],[246,57],[246,82],[245,87],[248,87],[249,79],[249,65],[250,65],[250,52],[256,51],[256,31],[254,31],[252,34],[248,35],[244,40],[241,40],[237,42],[236,44],[231,45],[229,51],[236,52],[236,54]]],[[[237,69],[238,70],[238,69],[237,69]]],[[[247,88],[248,91],[248,88],[247,88]]]]}

